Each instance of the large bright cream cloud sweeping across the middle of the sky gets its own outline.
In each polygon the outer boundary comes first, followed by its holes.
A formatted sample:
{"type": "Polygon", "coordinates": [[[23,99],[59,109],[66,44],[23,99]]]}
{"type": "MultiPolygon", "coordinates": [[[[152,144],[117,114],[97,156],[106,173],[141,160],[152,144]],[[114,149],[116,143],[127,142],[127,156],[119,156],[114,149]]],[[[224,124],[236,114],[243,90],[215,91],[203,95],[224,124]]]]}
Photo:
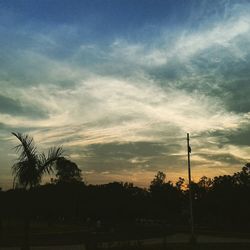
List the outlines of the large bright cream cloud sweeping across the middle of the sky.
{"type": "Polygon", "coordinates": [[[44,85],[19,91],[18,95],[43,107],[48,117],[36,121],[12,116],[8,124],[25,127],[32,121],[34,127],[41,129],[35,132],[38,138],[56,143],[63,142],[62,137],[67,146],[104,141],[162,141],[185,131],[234,128],[241,119],[227,113],[213,98],[161,88],[150,80],[130,82],[95,76],[79,80],[70,89],[44,85]]]}

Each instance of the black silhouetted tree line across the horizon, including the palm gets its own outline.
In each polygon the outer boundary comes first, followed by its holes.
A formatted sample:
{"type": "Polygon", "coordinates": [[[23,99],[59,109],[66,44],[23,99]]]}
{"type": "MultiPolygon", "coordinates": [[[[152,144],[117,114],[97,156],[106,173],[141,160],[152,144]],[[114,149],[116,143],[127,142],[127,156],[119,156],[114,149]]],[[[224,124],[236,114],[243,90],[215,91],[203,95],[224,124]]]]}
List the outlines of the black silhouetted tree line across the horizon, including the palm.
{"type": "MultiPolygon", "coordinates": [[[[14,188],[0,192],[3,219],[29,218],[48,224],[100,219],[107,225],[155,219],[188,226],[189,189],[183,178],[173,183],[159,171],[147,189],[127,182],[87,185],[62,148],[40,154],[31,137],[13,135],[20,141],[19,158],[13,165],[14,188]],[[41,185],[42,175],[52,171],[56,178],[41,185]]],[[[250,229],[250,163],[232,175],[204,176],[191,185],[196,226],[250,229]]]]}

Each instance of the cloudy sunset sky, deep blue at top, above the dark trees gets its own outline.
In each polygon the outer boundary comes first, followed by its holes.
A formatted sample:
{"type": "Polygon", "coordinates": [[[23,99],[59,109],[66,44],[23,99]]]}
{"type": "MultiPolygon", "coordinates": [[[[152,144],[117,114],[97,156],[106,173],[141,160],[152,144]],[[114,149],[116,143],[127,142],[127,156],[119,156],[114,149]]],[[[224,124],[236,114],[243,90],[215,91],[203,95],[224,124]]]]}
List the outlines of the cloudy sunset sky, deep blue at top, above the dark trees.
{"type": "MultiPolygon", "coordinates": [[[[0,0],[0,187],[18,141],[89,184],[146,187],[250,161],[250,1],[0,0]]],[[[44,181],[49,180],[46,176],[44,181]]]]}

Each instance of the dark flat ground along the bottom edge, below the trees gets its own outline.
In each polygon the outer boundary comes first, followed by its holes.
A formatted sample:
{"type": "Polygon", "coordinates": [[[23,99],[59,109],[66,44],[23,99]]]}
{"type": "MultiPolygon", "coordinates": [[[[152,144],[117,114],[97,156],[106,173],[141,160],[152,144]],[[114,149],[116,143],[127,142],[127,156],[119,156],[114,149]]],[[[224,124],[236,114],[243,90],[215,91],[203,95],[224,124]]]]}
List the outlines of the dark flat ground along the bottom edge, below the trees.
{"type": "MultiPolygon", "coordinates": [[[[0,249],[21,249],[25,233],[22,222],[2,223],[0,249]]],[[[197,230],[197,242],[189,243],[189,234],[185,229],[162,225],[120,224],[116,228],[101,228],[99,231],[88,228],[85,223],[31,223],[30,249],[250,249],[250,234],[211,232],[197,230]]]]}

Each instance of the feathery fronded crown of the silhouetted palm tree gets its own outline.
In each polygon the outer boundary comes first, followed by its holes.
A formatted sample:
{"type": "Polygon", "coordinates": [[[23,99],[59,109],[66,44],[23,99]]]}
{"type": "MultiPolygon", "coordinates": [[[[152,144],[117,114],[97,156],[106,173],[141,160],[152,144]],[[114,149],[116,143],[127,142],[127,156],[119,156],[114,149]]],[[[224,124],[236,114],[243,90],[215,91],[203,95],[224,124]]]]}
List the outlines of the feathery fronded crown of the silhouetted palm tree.
{"type": "Polygon", "coordinates": [[[54,162],[62,156],[62,147],[50,148],[46,156],[37,151],[32,137],[21,133],[12,134],[20,141],[15,147],[19,157],[12,166],[13,185],[20,185],[25,189],[36,187],[40,184],[43,174],[50,173],[54,162]]]}

